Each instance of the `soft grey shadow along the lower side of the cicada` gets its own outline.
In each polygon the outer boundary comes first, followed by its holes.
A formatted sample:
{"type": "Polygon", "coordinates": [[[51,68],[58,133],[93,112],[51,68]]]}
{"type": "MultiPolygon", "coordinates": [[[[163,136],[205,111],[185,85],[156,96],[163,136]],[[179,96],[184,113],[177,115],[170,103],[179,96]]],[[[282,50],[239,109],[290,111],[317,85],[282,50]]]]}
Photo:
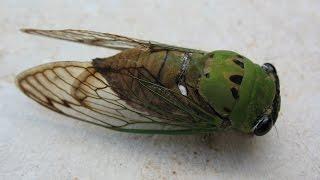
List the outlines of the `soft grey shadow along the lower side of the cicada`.
{"type": "MultiPolygon", "coordinates": [[[[100,151],[116,148],[117,150],[113,152],[117,154],[100,153],[105,157],[135,157],[133,161],[143,161],[146,166],[160,165],[163,169],[169,167],[175,173],[179,173],[175,168],[192,168],[199,172],[203,170],[233,172],[235,168],[244,165],[252,169],[258,168],[259,160],[255,159],[256,155],[261,154],[260,151],[272,143],[273,139],[269,136],[255,137],[239,132],[213,133],[209,136],[122,133],[79,122],[37,105],[32,107],[41,113],[36,119],[30,116],[31,119],[28,121],[33,121],[36,127],[48,128],[48,131],[55,131],[55,134],[67,137],[70,142],[76,143],[76,146],[90,149],[92,144],[95,144],[95,148],[100,151]],[[168,167],[164,167],[165,165],[168,167]]],[[[119,164],[125,163],[133,162],[119,162],[119,164]]]]}

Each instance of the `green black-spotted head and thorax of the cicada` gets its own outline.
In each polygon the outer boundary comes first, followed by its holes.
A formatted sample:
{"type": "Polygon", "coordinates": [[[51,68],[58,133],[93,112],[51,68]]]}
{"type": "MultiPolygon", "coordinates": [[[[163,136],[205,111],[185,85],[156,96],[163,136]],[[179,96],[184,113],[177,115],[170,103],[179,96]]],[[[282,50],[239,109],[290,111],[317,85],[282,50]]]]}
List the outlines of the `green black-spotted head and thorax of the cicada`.
{"type": "Polygon", "coordinates": [[[266,134],[280,109],[279,79],[273,65],[262,67],[231,51],[214,51],[208,56],[200,79],[200,93],[244,133],[266,134]]]}

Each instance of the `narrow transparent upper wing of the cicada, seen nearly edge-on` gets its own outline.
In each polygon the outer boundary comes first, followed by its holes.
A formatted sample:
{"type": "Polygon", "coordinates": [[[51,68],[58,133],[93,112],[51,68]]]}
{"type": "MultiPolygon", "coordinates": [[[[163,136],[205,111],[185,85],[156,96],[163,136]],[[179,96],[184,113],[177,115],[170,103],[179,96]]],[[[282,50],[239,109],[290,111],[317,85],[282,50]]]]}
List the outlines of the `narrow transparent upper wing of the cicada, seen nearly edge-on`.
{"type": "Polygon", "coordinates": [[[135,38],[129,38],[125,36],[101,33],[87,30],[39,30],[39,29],[22,29],[23,32],[29,34],[42,35],[57,39],[63,39],[68,41],[74,41],[84,43],[88,45],[101,46],[117,50],[125,50],[130,48],[141,48],[141,49],[152,49],[152,50],[177,50],[183,52],[200,52],[205,53],[201,50],[188,49],[183,47],[171,46],[162,44],[154,41],[145,41],[135,38]]]}

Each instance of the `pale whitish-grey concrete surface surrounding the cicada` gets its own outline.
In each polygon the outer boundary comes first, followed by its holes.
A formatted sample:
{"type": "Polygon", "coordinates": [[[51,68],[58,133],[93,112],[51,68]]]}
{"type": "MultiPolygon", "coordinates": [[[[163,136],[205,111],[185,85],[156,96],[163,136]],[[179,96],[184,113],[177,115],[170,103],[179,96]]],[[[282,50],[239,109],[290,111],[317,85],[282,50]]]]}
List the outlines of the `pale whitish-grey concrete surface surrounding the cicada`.
{"type": "Polygon", "coordinates": [[[320,1],[0,1],[0,179],[320,179],[320,1]],[[22,34],[90,29],[230,49],[281,80],[263,137],[132,135],[51,112],[14,85],[20,71],[115,51],[22,34]]]}

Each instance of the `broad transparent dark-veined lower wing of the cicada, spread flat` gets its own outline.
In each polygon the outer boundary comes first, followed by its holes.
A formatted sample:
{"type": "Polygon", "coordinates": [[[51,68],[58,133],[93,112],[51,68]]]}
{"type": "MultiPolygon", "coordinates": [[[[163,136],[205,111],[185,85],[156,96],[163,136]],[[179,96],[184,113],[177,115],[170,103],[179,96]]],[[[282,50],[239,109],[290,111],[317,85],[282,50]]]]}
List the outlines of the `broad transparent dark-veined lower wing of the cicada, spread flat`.
{"type": "Polygon", "coordinates": [[[91,63],[55,62],[19,74],[16,83],[49,109],[108,129],[155,134],[217,130],[208,120],[214,117],[199,104],[155,84],[140,69],[101,74],[91,63]]]}

